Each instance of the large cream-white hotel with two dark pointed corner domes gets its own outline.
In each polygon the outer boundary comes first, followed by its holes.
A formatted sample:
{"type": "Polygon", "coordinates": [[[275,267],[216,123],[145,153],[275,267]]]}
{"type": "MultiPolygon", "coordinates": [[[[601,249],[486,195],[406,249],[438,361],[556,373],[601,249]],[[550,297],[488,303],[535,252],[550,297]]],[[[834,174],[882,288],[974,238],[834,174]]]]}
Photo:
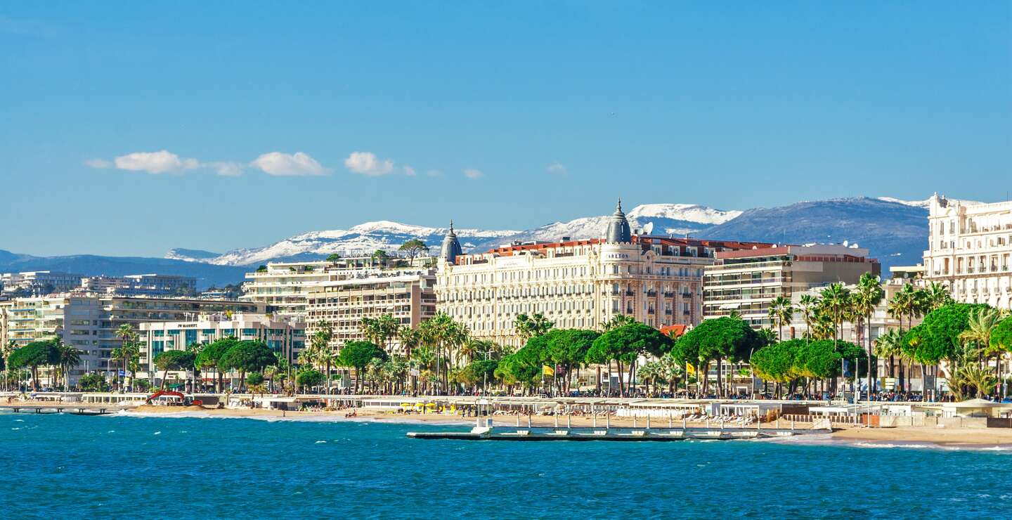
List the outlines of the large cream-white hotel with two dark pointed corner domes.
{"type": "Polygon", "coordinates": [[[564,237],[463,255],[451,226],[436,298],[475,337],[513,347],[522,341],[513,327],[520,314],[540,313],[563,329],[599,329],[616,315],[657,328],[695,325],[703,268],[716,253],[767,246],[632,235],[621,204],[603,240],[564,237]]]}

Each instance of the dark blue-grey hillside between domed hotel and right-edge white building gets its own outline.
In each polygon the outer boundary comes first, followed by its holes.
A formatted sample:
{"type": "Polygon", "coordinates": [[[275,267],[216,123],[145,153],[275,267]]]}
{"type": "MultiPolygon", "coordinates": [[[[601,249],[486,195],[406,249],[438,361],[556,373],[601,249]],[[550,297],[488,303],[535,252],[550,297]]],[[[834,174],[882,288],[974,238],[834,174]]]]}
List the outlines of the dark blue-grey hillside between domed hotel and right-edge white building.
{"type": "Polygon", "coordinates": [[[776,243],[847,243],[867,248],[882,264],[921,262],[927,248],[928,210],[918,202],[856,197],[749,209],[696,234],[700,238],[776,243]]]}

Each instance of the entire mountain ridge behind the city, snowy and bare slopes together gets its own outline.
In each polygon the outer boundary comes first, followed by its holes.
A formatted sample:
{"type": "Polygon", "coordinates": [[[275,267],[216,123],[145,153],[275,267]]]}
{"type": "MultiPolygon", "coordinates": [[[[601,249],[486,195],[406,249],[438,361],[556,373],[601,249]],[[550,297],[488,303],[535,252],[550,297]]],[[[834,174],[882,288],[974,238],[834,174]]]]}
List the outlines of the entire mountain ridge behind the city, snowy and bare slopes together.
{"type": "MultiPolygon", "coordinates": [[[[698,204],[641,204],[626,213],[634,230],[652,235],[691,236],[776,243],[846,243],[866,247],[882,263],[921,262],[927,246],[927,201],[893,197],[844,197],[774,207],[722,210],[698,204]]],[[[611,215],[583,216],[523,231],[456,229],[465,251],[485,251],[514,241],[600,238],[611,215]]],[[[225,253],[177,248],[165,258],[69,255],[37,257],[0,250],[0,271],[62,270],[85,275],[142,272],[195,276],[198,285],[223,285],[271,261],[311,261],[332,253],[367,255],[397,250],[420,239],[437,254],[447,228],[393,221],[361,223],[346,230],[306,232],[259,248],[225,253]]]]}

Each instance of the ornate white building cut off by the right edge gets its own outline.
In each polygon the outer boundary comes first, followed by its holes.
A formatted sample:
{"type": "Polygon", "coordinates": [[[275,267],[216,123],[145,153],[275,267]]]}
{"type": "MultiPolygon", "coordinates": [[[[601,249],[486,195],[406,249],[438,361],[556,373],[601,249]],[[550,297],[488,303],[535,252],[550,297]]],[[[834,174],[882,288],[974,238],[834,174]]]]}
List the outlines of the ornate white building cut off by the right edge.
{"type": "Polygon", "coordinates": [[[929,199],[924,278],[957,301],[1012,308],[1012,201],[929,199]]]}

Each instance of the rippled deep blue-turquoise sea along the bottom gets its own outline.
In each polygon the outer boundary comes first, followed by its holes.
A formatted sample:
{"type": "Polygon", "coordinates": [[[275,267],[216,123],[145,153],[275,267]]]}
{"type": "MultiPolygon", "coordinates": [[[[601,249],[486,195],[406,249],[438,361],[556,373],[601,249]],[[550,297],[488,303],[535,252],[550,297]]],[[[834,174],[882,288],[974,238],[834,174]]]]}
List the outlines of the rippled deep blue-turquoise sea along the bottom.
{"type": "Polygon", "coordinates": [[[1008,451],[404,436],[447,428],[0,414],[0,515],[1008,518],[1012,508],[1008,451]]]}

